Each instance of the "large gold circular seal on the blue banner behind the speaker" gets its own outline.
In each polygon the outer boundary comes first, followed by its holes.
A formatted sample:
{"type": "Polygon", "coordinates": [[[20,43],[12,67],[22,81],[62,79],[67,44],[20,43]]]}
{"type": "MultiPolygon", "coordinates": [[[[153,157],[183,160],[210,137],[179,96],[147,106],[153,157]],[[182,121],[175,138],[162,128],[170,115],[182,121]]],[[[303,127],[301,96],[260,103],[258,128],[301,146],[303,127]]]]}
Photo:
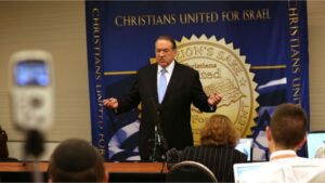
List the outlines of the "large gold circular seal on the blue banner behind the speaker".
{"type": "MultiPolygon", "coordinates": [[[[250,65],[239,55],[239,49],[226,44],[224,39],[218,41],[214,36],[207,38],[205,35],[199,38],[193,35],[191,39],[183,37],[177,44],[177,61],[198,70],[206,94],[218,92],[222,95],[216,113],[230,117],[242,136],[251,134],[258,107],[257,83],[249,71],[250,65]]],[[[199,129],[211,114],[200,113],[193,105],[191,109],[194,144],[197,145],[199,129]]]]}

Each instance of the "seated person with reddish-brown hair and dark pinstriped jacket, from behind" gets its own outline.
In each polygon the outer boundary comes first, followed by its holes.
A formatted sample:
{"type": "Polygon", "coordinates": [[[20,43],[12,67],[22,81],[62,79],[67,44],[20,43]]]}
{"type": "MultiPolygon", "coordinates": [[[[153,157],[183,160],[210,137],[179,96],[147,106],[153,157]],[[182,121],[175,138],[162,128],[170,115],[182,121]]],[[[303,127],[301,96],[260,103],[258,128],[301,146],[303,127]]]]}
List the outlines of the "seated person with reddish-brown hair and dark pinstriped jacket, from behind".
{"type": "Polygon", "coordinates": [[[200,131],[200,146],[187,146],[181,160],[194,160],[208,167],[219,182],[234,182],[233,165],[247,156],[234,147],[239,139],[229,117],[213,115],[200,131]]]}

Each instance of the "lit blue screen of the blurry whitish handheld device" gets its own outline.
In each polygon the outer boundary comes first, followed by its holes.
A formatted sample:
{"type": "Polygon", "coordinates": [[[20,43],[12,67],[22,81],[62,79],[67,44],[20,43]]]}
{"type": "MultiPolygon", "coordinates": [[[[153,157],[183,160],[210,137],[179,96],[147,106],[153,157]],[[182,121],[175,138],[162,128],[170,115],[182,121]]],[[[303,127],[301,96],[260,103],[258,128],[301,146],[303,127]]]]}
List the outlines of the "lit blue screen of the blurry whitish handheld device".
{"type": "Polygon", "coordinates": [[[18,62],[15,68],[16,84],[21,87],[50,84],[49,69],[44,61],[32,60],[18,62]]]}

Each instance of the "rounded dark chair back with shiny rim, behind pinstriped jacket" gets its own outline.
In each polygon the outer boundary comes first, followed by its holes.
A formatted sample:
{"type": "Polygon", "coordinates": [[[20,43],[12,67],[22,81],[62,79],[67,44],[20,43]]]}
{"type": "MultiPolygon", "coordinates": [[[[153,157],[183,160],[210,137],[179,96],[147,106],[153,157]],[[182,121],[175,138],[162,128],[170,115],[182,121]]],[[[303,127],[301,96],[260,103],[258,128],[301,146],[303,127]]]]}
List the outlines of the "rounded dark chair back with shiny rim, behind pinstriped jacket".
{"type": "Polygon", "coordinates": [[[196,161],[176,164],[166,175],[166,182],[218,182],[213,172],[196,161]]]}

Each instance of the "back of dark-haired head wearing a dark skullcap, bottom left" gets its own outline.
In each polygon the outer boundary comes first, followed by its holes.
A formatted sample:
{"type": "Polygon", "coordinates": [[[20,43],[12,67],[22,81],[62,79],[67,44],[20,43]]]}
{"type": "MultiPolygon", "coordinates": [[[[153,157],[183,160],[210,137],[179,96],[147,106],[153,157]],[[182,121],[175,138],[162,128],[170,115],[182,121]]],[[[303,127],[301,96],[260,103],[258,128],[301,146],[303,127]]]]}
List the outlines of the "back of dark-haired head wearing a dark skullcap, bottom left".
{"type": "Polygon", "coordinates": [[[103,157],[87,141],[65,140],[51,156],[49,182],[107,182],[103,157]]]}

